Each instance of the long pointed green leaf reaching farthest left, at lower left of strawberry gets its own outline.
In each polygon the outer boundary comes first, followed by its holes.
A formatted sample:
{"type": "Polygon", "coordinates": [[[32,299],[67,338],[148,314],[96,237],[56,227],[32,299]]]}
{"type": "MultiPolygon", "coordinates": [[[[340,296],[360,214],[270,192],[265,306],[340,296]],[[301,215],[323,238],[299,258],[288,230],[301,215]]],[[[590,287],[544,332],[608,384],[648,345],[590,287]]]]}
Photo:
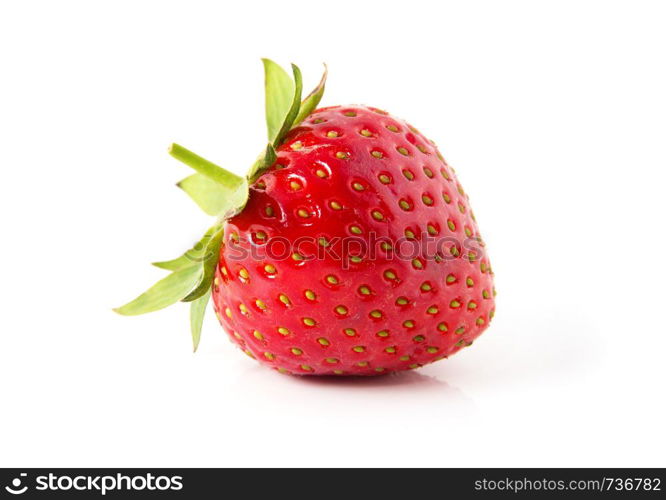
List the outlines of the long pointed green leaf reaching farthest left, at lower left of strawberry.
{"type": "Polygon", "coordinates": [[[133,301],[114,311],[125,316],[134,316],[164,309],[185,297],[200,281],[201,275],[202,270],[199,266],[175,271],[133,301]]]}

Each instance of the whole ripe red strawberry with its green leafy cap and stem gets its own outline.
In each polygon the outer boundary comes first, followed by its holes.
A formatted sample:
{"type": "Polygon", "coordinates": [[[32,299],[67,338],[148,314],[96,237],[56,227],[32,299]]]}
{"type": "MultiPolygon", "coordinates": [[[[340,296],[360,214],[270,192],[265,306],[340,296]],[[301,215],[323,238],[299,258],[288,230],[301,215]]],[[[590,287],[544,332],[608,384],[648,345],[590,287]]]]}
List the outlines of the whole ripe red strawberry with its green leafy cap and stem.
{"type": "Polygon", "coordinates": [[[435,144],[366,106],[315,109],[264,60],[269,140],[247,178],[174,145],[179,186],[218,222],[122,314],[209,298],[246,354],[283,373],[371,375],[469,346],[494,313],[493,274],[467,194],[435,144]]]}

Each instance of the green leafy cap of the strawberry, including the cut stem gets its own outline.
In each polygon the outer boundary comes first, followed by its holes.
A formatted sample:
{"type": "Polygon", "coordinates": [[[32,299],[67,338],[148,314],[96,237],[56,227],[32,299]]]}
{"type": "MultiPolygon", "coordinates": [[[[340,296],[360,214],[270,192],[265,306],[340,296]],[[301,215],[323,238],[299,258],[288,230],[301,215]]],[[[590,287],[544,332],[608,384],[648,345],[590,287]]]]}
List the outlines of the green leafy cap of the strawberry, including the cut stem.
{"type": "Polygon", "coordinates": [[[249,186],[275,162],[277,148],[291,129],[312,113],[324,94],[327,69],[321,81],[303,100],[301,71],[291,65],[292,77],[277,63],[262,59],[265,76],[266,128],[268,144],[265,150],[241,177],[206,160],[192,151],[172,144],[169,154],[195,173],[181,180],[177,186],[216,222],[203,237],[181,256],[153,265],[171,273],[146,292],[115,312],[133,316],[157,311],[176,302],[190,303],[190,329],[194,350],[201,338],[201,327],[211,295],[220,248],[224,237],[224,221],[239,213],[249,197],[249,186]]]}

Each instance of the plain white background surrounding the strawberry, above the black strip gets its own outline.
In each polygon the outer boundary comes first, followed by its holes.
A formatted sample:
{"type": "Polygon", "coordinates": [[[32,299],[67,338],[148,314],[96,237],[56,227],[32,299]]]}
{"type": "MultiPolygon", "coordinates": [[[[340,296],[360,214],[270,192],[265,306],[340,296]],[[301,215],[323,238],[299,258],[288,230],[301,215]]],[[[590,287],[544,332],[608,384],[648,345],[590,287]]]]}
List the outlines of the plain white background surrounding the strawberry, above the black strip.
{"type": "MultiPolygon", "coordinates": [[[[665,466],[663,2],[3,2],[0,466],[665,466]],[[260,57],[413,122],[498,304],[475,345],[280,376],[210,314],[118,306],[208,226],[174,140],[237,172],[260,57]]],[[[182,306],[182,307],[180,307],[182,306]]]]}

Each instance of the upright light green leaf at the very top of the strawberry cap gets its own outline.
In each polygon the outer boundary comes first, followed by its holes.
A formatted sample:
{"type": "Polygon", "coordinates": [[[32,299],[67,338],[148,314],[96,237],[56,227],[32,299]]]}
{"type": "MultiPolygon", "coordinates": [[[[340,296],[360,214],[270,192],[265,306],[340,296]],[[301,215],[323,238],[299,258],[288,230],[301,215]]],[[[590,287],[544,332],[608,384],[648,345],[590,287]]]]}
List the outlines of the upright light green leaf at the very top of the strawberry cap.
{"type": "Polygon", "coordinates": [[[294,82],[279,64],[270,59],[262,61],[266,91],[266,127],[268,140],[274,142],[290,109],[294,82]]]}

